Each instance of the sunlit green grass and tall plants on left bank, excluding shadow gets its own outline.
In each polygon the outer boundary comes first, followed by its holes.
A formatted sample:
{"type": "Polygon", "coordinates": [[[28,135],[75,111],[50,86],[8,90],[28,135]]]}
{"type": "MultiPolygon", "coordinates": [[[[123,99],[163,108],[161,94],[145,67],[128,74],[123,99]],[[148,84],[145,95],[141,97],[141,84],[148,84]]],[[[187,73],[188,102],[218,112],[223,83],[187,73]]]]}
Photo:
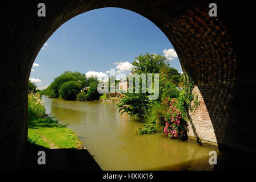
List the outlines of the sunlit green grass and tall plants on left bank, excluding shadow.
{"type": "Polygon", "coordinates": [[[27,140],[32,144],[51,148],[81,148],[82,142],[74,131],[61,125],[45,113],[39,93],[29,93],[29,129],[27,140]]]}

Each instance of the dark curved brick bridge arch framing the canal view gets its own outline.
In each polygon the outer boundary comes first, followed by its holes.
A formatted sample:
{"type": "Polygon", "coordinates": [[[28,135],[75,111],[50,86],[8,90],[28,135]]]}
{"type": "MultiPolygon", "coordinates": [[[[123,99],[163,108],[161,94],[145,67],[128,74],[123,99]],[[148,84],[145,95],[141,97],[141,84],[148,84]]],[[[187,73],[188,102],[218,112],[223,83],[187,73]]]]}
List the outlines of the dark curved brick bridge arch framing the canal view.
{"type": "MultiPolygon", "coordinates": [[[[27,140],[27,80],[37,53],[55,30],[75,15],[102,7],[121,7],[155,23],[173,44],[182,68],[201,92],[206,116],[194,118],[220,150],[255,154],[255,19],[249,7],[233,1],[217,3],[218,16],[209,17],[210,1],[44,1],[46,17],[37,16],[39,1],[1,7],[1,127],[0,168],[17,168],[27,140]]],[[[201,111],[202,111],[201,110],[201,111]]],[[[200,110],[198,111],[198,115],[200,110]]],[[[202,112],[201,112],[202,114],[202,112]]],[[[201,133],[199,135],[204,135],[201,133]]],[[[207,138],[207,137],[206,137],[207,138]]]]}

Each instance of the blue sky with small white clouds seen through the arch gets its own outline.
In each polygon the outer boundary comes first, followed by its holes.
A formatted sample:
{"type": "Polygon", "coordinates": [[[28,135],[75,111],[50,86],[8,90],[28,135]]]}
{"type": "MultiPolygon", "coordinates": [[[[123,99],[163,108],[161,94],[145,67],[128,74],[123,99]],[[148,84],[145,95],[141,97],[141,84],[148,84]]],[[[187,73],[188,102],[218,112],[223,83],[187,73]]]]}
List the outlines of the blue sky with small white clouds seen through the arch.
{"type": "Polygon", "coordinates": [[[30,80],[45,89],[64,71],[99,77],[130,73],[138,55],[165,55],[182,72],[178,56],[165,34],[149,19],[133,11],[103,8],[75,16],[46,41],[34,61],[30,80]]]}

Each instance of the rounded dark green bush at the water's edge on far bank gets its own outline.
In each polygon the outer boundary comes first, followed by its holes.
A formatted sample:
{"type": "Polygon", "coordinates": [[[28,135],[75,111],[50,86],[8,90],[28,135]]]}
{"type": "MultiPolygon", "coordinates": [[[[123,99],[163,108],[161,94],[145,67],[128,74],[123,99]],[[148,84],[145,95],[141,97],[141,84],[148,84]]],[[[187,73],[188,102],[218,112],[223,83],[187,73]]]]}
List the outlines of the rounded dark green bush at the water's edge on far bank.
{"type": "Polygon", "coordinates": [[[61,89],[59,89],[59,96],[63,100],[75,101],[80,90],[80,84],[75,81],[68,81],[61,86],[61,89]]]}

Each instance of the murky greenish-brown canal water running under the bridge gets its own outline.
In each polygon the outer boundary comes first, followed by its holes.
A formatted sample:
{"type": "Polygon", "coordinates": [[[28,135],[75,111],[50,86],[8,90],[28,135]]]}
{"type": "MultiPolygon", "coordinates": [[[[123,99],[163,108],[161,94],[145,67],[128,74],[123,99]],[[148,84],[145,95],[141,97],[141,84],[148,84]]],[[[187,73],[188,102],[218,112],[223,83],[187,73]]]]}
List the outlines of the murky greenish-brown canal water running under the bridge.
{"type": "MultiPolygon", "coordinates": [[[[43,96],[47,113],[69,124],[103,170],[213,170],[213,148],[165,137],[164,133],[136,135],[142,126],[115,103],[62,101],[43,96]]],[[[218,155],[221,154],[215,150],[218,155]]]]}

